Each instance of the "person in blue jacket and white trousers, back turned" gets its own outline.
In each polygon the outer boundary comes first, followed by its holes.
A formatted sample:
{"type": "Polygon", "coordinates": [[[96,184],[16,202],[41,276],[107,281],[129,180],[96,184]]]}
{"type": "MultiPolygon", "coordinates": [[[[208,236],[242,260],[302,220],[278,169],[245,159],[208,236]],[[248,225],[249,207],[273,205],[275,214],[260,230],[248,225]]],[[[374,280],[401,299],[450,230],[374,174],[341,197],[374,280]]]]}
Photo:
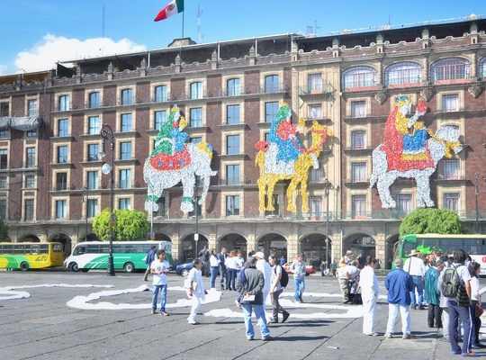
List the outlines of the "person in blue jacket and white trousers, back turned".
{"type": "Polygon", "coordinates": [[[385,338],[392,338],[400,312],[402,338],[409,339],[411,338],[410,292],[414,284],[410,275],[403,271],[403,260],[400,258],[395,260],[395,270],[386,275],[384,285],[388,290],[388,323],[385,338]]]}

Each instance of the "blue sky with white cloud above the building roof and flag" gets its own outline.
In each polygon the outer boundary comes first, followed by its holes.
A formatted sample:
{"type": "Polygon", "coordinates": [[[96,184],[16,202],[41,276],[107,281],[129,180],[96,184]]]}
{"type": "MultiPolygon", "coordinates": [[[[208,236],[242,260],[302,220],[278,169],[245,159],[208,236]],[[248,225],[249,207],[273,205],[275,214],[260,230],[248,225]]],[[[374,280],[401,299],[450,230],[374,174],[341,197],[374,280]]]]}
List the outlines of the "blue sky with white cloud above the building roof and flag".
{"type": "Polygon", "coordinates": [[[54,68],[58,61],[265,35],[377,30],[486,17],[484,0],[185,0],[184,13],[155,23],[170,0],[4,0],[0,76],[54,68]]]}

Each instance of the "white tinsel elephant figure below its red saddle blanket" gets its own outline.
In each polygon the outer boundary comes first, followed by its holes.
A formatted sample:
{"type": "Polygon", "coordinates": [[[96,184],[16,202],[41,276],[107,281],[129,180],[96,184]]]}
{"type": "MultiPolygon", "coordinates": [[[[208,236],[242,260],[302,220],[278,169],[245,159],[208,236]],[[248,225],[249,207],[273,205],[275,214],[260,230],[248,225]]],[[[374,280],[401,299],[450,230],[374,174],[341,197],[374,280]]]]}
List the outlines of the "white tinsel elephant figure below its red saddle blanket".
{"type": "Polygon", "coordinates": [[[211,170],[211,146],[205,142],[198,144],[189,143],[186,145],[191,163],[178,170],[159,170],[150,164],[150,159],[145,160],[143,166],[143,178],[148,184],[148,193],[145,200],[146,211],[157,211],[157,200],[165,189],[175,186],[179,182],[183,185],[183,199],[181,211],[190,212],[194,210],[193,194],[196,175],[202,180],[202,193],[199,204],[205,202],[208,194],[211,176],[216,171],[211,170]]]}

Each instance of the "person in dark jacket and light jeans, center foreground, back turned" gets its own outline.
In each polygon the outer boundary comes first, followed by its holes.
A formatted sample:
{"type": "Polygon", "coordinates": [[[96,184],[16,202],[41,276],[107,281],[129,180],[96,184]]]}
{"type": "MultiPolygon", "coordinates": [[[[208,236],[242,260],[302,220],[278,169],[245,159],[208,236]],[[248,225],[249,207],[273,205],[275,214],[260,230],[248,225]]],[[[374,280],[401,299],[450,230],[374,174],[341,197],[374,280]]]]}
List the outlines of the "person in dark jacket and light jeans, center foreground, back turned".
{"type": "Polygon", "coordinates": [[[258,325],[260,326],[260,333],[263,341],[273,340],[270,336],[270,330],[266,326],[265,306],[263,299],[263,288],[265,286],[265,278],[261,271],[257,270],[257,258],[250,257],[245,264],[244,275],[238,276],[236,288],[238,293],[243,296],[241,301],[241,308],[245,315],[245,328],[248,340],[253,340],[255,337],[255,330],[251,322],[251,314],[255,311],[258,325]],[[253,299],[246,300],[247,296],[253,296],[253,299]]]}

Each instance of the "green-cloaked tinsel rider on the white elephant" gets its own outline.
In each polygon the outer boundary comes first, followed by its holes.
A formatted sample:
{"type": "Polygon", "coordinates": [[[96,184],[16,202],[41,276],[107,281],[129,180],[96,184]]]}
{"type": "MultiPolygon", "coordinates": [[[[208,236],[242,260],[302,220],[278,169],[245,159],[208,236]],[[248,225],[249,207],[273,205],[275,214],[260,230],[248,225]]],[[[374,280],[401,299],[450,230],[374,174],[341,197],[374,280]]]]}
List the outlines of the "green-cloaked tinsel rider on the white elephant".
{"type": "Polygon", "coordinates": [[[184,151],[187,134],[184,128],[187,125],[184,116],[180,115],[179,107],[174,104],[170,114],[160,127],[155,142],[155,148],[151,156],[156,154],[167,154],[173,156],[176,152],[184,151]]]}

